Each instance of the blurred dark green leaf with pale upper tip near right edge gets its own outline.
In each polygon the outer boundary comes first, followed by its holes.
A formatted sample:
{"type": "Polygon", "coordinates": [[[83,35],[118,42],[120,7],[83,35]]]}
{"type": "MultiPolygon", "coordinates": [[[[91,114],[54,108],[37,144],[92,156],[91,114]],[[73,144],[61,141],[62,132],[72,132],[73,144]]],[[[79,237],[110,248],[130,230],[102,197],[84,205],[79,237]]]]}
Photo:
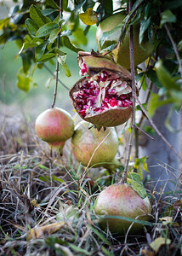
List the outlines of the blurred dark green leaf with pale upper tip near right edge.
{"type": "Polygon", "coordinates": [[[163,67],[162,60],[156,62],[155,68],[156,76],[163,87],[167,90],[180,90],[179,85],[175,83],[176,78],[172,78],[168,70],[163,67]]]}

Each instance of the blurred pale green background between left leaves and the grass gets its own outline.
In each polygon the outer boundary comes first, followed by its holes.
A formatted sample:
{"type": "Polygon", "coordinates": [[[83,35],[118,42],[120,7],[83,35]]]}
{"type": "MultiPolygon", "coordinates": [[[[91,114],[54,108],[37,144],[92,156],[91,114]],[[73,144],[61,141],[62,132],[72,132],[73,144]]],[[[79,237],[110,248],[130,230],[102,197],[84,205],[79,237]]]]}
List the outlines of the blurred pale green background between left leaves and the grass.
{"type": "MultiPolygon", "coordinates": [[[[0,20],[9,15],[10,10],[14,7],[12,0],[0,1],[0,20]]],[[[90,51],[96,50],[95,42],[96,26],[92,26],[88,32],[88,40],[84,42],[84,45],[79,45],[81,49],[90,51]]],[[[1,32],[0,32],[1,33],[1,32]]],[[[54,84],[55,80],[53,76],[48,73],[48,70],[43,67],[36,69],[33,74],[33,83],[37,86],[34,87],[31,84],[31,89],[26,93],[20,90],[17,85],[17,73],[21,67],[21,59],[18,56],[20,48],[14,41],[8,42],[4,45],[0,45],[0,112],[1,114],[8,114],[11,116],[20,114],[28,117],[32,121],[37,115],[49,108],[54,96],[54,84]],[[51,80],[50,83],[48,81],[51,80]]],[[[64,73],[60,71],[59,79],[69,88],[76,83],[79,79],[79,67],[77,66],[77,53],[72,52],[69,49],[61,50],[67,53],[67,65],[71,70],[71,77],[66,77],[64,73]]],[[[54,73],[56,63],[46,64],[51,72],[54,73]]],[[[56,100],[56,107],[65,108],[71,115],[74,115],[71,103],[69,100],[68,90],[66,90],[60,83],[58,87],[58,95],[56,100]]]]}

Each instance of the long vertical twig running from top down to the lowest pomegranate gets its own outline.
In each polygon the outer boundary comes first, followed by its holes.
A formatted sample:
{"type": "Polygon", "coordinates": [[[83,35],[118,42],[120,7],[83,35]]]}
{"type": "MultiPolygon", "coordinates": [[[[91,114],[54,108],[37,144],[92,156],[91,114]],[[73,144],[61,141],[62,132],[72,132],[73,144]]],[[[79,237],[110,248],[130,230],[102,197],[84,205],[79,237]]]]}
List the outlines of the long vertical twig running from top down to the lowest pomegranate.
{"type": "MultiPolygon", "coordinates": [[[[132,0],[129,1],[129,11],[132,9],[132,0]]],[[[133,34],[133,26],[129,26],[129,53],[130,53],[130,67],[131,67],[131,76],[132,76],[132,101],[133,101],[133,113],[132,113],[132,125],[131,132],[129,135],[128,141],[128,150],[126,156],[126,163],[124,166],[124,171],[122,173],[122,179],[120,180],[120,184],[125,183],[128,174],[128,164],[132,149],[132,142],[134,137],[134,125],[135,125],[135,96],[136,96],[136,87],[135,87],[135,79],[134,79],[134,34],[133,34]]]]}

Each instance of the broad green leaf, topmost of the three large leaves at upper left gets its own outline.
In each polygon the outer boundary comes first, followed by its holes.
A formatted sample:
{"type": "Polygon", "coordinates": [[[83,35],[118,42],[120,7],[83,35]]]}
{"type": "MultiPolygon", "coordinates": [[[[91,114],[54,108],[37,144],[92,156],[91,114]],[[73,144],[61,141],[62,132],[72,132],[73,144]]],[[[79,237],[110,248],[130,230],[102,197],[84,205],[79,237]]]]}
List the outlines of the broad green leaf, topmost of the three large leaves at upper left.
{"type": "Polygon", "coordinates": [[[38,27],[41,27],[48,22],[51,22],[51,20],[48,17],[42,14],[41,10],[38,9],[36,5],[31,5],[30,16],[31,19],[36,22],[38,27]]]}

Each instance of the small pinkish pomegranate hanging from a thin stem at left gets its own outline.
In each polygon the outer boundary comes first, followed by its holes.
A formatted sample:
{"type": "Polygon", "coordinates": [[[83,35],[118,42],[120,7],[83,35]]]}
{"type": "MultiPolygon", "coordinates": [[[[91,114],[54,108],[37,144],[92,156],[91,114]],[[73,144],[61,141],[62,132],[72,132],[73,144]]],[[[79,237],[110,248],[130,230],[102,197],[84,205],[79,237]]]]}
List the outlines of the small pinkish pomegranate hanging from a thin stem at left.
{"type": "Polygon", "coordinates": [[[35,129],[37,136],[48,143],[49,148],[61,152],[65,141],[73,135],[74,122],[64,109],[49,108],[39,114],[35,129]]]}

